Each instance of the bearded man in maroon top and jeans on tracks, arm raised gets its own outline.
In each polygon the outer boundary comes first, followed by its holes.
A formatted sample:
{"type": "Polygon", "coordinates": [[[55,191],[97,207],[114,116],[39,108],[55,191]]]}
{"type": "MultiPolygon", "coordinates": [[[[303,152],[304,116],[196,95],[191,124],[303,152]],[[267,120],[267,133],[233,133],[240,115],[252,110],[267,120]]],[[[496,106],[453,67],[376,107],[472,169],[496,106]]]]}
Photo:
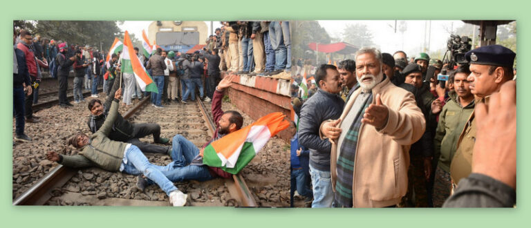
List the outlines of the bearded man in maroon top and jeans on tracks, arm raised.
{"type": "MultiPolygon", "coordinates": [[[[212,117],[217,123],[217,129],[214,132],[214,137],[210,142],[203,145],[202,149],[198,149],[192,142],[185,139],[182,135],[175,135],[174,141],[171,143],[172,149],[171,159],[174,160],[174,169],[169,171],[162,171],[166,177],[172,182],[181,182],[183,180],[198,180],[205,181],[216,177],[231,178],[232,174],[223,171],[221,168],[209,167],[203,164],[203,150],[210,143],[221,139],[221,137],[238,131],[243,125],[243,117],[237,111],[221,110],[221,102],[223,99],[223,91],[232,85],[232,79],[236,75],[225,77],[219,82],[212,97],[212,117]]],[[[144,190],[147,185],[153,184],[153,180],[148,177],[142,178],[138,176],[136,186],[140,190],[144,190]]]]}

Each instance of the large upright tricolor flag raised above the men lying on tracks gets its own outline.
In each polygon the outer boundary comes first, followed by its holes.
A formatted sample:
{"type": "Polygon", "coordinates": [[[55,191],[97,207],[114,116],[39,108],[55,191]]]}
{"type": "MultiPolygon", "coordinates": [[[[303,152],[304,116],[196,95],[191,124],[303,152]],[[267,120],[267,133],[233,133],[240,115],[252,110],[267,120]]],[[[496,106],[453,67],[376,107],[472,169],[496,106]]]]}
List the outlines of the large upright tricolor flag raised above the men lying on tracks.
{"type": "Polygon", "coordinates": [[[147,73],[144,65],[140,63],[140,59],[135,55],[135,49],[129,32],[125,31],[124,35],[124,51],[122,52],[122,72],[133,72],[136,82],[142,91],[158,93],[158,89],[153,79],[147,73]]]}

